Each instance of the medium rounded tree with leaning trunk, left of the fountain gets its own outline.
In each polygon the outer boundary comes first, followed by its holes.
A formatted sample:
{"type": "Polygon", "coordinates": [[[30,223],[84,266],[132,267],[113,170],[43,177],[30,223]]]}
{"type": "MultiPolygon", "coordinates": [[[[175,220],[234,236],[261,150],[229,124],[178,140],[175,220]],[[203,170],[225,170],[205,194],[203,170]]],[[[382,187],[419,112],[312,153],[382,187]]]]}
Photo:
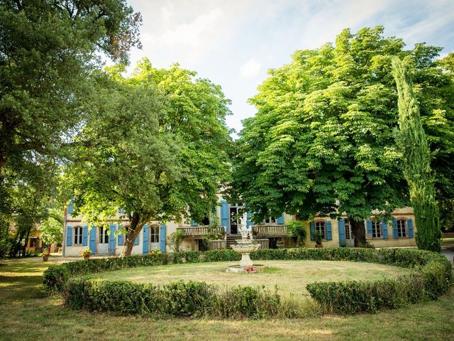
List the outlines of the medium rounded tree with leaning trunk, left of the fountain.
{"type": "Polygon", "coordinates": [[[178,65],[158,70],[145,59],[131,77],[121,66],[109,71],[67,179],[88,222],[106,224],[123,210],[125,256],[150,220],[200,221],[216,205],[228,180],[230,102],[218,85],[178,65]]]}

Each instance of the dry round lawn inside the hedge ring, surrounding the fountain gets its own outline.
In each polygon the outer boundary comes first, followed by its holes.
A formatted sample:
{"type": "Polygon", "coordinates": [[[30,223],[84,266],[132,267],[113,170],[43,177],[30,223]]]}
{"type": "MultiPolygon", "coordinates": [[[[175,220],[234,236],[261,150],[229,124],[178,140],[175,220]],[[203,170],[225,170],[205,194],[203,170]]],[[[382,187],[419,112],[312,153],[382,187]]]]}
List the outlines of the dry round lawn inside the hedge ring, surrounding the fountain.
{"type": "Polygon", "coordinates": [[[121,269],[104,272],[97,276],[108,279],[164,284],[182,279],[204,281],[218,286],[258,286],[273,289],[279,293],[307,294],[306,284],[315,281],[342,281],[346,279],[382,279],[408,271],[397,266],[349,261],[260,261],[268,269],[258,274],[228,274],[228,262],[175,264],[121,269]]]}

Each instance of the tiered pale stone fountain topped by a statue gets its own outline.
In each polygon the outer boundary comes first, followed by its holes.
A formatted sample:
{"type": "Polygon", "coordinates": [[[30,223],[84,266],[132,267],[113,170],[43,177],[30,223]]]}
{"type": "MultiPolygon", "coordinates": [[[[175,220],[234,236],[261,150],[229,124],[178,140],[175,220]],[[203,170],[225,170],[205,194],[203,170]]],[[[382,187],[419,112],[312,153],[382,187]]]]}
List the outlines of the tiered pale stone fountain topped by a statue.
{"type": "Polygon", "coordinates": [[[236,239],[236,245],[231,245],[233,251],[241,254],[239,265],[227,266],[227,272],[258,272],[265,269],[265,265],[254,265],[250,260],[250,253],[257,251],[260,244],[254,243],[252,229],[247,226],[248,217],[246,213],[240,218],[241,239],[236,239]]]}

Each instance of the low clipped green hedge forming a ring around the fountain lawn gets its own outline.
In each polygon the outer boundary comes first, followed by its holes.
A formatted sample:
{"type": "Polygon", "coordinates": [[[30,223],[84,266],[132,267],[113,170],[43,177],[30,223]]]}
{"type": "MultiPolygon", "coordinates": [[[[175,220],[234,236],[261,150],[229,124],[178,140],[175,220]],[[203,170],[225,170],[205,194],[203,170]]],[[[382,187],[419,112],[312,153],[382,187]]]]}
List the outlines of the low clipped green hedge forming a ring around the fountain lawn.
{"type": "MultiPolygon", "coordinates": [[[[254,260],[362,261],[402,266],[412,271],[377,281],[315,282],[306,286],[312,298],[326,311],[339,314],[375,312],[409,303],[433,300],[453,283],[450,262],[441,254],[411,249],[263,249],[250,255],[254,260]]],[[[177,281],[163,286],[130,281],[110,281],[90,274],[137,266],[238,261],[233,250],[188,251],[163,254],[87,259],[50,266],[43,274],[47,291],[58,291],[70,308],[155,313],[170,316],[216,318],[265,318],[278,315],[282,300],[277,292],[257,286],[237,286],[218,291],[204,282],[177,281]]],[[[286,314],[292,317],[292,313],[286,314]]],[[[297,317],[297,316],[294,316],[297,317]]]]}

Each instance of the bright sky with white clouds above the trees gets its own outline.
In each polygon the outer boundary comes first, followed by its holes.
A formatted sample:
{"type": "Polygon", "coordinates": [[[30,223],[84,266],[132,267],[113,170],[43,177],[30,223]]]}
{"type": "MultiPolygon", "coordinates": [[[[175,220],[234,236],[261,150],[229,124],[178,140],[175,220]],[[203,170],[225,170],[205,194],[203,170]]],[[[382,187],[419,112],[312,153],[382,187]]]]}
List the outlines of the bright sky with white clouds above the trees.
{"type": "MultiPolygon", "coordinates": [[[[343,28],[384,26],[386,36],[454,51],[454,0],[129,0],[143,16],[143,57],[154,67],[181,67],[221,85],[231,99],[229,127],[255,114],[248,99],[267,70],[287,64],[295,50],[334,42],[343,28]]],[[[233,136],[236,136],[233,134],[233,136]]]]}

